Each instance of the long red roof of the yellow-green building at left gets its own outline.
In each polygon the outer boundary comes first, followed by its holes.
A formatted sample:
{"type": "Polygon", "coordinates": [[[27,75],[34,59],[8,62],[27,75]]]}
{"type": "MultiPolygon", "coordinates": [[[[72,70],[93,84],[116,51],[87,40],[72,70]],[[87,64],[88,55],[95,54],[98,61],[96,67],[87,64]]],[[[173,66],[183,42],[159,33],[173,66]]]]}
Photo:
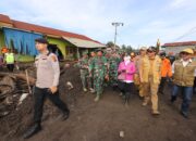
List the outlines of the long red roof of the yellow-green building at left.
{"type": "MultiPolygon", "coordinates": [[[[59,29],[54,29],[54,28],[50,28],[50,27],[44,27],[44,26],[39,26],[39,25],[34,25],[34,24],[20,22],[20,21],[10,20],[9,16],[2,15],[2,14],[0,14],[0,22],[12,24],[14,28],[22,29],[22,30],[40,33],[44,35],[53,35],[53,36],[60,36],[60,37],[65,36],[65,37],[71,37],[71,38],[95,41],[95,40],[93,40],[86,36],[83,36],[83,35],[73,34],[73,33],[63,31],[63,30],[59,30],[59,29]]],[[[98,42],[98,41],[96,41],[96,42],[98,42]]],[[[98,43],[100,43],[100,42],[98,42],[98,43]]]]}

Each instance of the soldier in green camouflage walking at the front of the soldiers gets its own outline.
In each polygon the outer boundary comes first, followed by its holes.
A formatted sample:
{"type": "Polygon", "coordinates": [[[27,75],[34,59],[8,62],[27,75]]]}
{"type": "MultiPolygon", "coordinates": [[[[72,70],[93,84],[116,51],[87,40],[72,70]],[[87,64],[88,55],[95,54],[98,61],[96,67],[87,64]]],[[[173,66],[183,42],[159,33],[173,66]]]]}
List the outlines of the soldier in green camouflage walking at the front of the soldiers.
{"type": "Polygon", "coordinates": [[[100,94],[103,91],[103,80],[105,78],[108,79],[108,72],[107,72],[107,60],[102,56],[102,51],[97,51],[97,56],[93,60],[89,70],[94,69],[94,85],[96,91],[96,99],[95,102],[99,101],[100,94]]]}

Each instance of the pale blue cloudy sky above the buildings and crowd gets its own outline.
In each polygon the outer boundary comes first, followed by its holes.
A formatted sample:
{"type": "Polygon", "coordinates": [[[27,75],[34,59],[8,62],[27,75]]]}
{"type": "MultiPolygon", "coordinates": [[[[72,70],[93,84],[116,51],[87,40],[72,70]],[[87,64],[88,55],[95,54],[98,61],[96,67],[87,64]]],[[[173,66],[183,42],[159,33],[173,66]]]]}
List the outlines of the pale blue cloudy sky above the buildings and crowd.
{"type": "Polygon", "coordinates": [[[1,0],[12,20],[88,36],[102,43],[139,46],[196,40],[196,0],[1,0]]]}

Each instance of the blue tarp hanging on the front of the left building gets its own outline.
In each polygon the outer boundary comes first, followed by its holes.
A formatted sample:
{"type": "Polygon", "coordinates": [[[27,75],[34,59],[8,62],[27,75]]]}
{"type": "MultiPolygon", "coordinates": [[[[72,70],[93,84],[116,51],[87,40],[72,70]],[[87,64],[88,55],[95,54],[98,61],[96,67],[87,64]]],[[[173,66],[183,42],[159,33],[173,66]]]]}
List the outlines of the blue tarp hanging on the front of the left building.
{"type": "Polygon", "coordinates": [[[41,34],[22,31],[17,29],[3,28],[7,47],[17,50],[20,54],[36,55],[35,39],[41,38],[41,34]]]}

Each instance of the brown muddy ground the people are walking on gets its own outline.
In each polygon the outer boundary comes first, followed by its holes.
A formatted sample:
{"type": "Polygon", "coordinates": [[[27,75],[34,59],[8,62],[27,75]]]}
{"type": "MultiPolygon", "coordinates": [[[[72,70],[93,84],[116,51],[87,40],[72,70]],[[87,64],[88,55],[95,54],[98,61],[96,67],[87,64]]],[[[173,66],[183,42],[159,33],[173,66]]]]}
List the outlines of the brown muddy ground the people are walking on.
{"type": "MultiPolygon", "coordinates": [[[[98,103],[95,95],[84,93],[77,68],[65,69],[61,76],[61,98],[71,110],[70,118],[61,121],[60,112],[49,101],[45,104],[42,130],[27,141],[196,141],[196,94],[193,97],[189,119],[179,114],[181,98],[170,104],[170,91],[159,94],[161,115],[154,117],[150,105],[142,106],[137,94],[124,106],[118,91],[110,88],[98,103]],[[74,89],[69,90],[70,80],[74,89]],[[120,137],[120,131],[124,137],[120,137]]],[[[0,141],[23,141],[22,134],[32,124],[33,95],[17,111],[0,118],[0,141]]]]}

